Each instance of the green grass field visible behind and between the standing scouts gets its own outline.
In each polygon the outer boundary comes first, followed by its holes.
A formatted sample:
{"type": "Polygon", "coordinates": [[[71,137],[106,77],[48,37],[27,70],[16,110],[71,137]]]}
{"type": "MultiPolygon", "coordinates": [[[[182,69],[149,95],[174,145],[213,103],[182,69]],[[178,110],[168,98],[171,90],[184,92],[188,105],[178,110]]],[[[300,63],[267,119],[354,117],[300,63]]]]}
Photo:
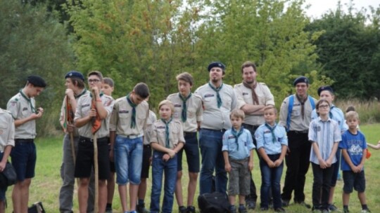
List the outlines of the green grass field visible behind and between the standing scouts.
{"type": "MultiPolygon", "coordinates": [[[[360,129],[365,133],[367,137],[367,142],[376,144],[380,139],[380,124],[371,124],[371,125],[360,125],[360,129]]],[[[37,201],[42,201],[46,212],[55,213],[58,211],[58,193],[61,186],[61,177],[60,177],[60,167],[61,167],[61,158],[62,158],[62,138],[45,138],[37,139],[37,168],[36,168],[36,177],[32,180],[32,185],[30,187],[30,204],[37,201]]],[[[372,157],[366,161],[365,164],[365,174],[367,177],[367,204],[369,209],[372,212],[380,212],[380,151],[370,150],[372,152],[372,157]]],[[[184,158],[186,159],[186,158],[184,158]]],[[[184,177],[182,183],[187,183],[188,178],[186,177],[186,163],[184,166],[184,177]]],[[[286,170],[284,170],[285,172],[286,170]]],[[[284,174],[283,180],[281,183],[284,183],[284,174]]],[[[260,195],[260,169],[258,167],[258,159],[255,158],[255,167],[253,168],[253,178],[255,179],[256,187],[258,188],[258,194],[260,195]]],[[[146,196],[146,206],[149,207],[150,203],[150,188],[151,184],[148,185],[148,195],[146,196]]],[[[336,206],[342,208],[342,199],[341,193],[343,188],[343,181],[338,181],[336,186],[334,202],[336,206]]],[[[12,212],[11,205],[11,191],[12,188],[8,188],[6,193],[8,198],[8,209],[6,212],[12,212]]],[[[186,184],[183,184],[183,191],[186,192],[186,184]]],[[[196,195],[198,194],[198,191],[196,195]]],[[[308,172],[308,177],[306,180],[305,186],[306,202],[311,202],[312,195],[312,170],[310,168],[308,172]]],[[[163,197],[163,196],[161,196],[163,197]]],[[[184,197],[186,195],[184,194],[184,197]]],[[[184,198],[184,200],[186,200],[184,198]]],[[[195,199],[196,200],[196,199],[195,199]]],[[[258,198],[258,205],[260,204],[260,198],[258,198]]],[[[75,212],[78,212],[77,205],[77,191],[75,189],[74,195],[74,205],[75,212]]],[[[198,207],[197,203],[194,203],[198,207]]],[[[120,198],[118,191],[115,191],[115,197],[113,202],[114,212],[122,212],[120,207],[120,198]]],[[[177,212],[177,203],[173,207],[173,212],[177,212]]],[[[260,212],[258,207],[255,210],[249,212],[260,212]]],[[[360,202],[357,199],[357,193],[353,193],[350,199],[350,212],[360,212],[360,202]]],[[[305,209],[299,205],[290,205],[286,207],[287,212],[310,212],[310,210],[305,209]]],[[[269,211],[271,212],[271,211],[269,211]]]]}

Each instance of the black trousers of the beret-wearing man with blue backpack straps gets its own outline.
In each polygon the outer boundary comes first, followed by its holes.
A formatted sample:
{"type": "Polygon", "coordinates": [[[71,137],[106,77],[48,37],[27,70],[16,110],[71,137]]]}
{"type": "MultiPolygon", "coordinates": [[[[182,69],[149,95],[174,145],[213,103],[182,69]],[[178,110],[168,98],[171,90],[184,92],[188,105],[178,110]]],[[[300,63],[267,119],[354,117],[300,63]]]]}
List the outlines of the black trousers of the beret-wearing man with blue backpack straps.
{"type": "Polygon", "coordinates": [[[286,153],[286,176],[284,188],[282,188],[282,200],[291,200],[294,191],[294,202],[305,201],[306,173],[310,165],[311,143],[308,140],[308,132],[288,132],[288,148],[286,153]]]}

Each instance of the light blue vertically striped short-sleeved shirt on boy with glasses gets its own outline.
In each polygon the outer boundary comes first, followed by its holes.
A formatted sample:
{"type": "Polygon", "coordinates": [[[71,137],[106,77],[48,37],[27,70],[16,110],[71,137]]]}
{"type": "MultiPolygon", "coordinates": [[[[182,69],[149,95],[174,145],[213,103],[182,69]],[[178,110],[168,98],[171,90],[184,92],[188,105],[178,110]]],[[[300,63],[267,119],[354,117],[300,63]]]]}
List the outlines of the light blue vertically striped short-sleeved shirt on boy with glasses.
{"type": "MultiPolygon", "coordinates": [[[[331,155],[334,143],[338,143],[342,140],[341,130],[336,121],[329,118],[327,121],[322,121],[320,117],[312,120],[309,127],[309,141],[317,143],[319,152],[323,160],[327,160],[331,155]]],[[[310,150],[310,162],[318,164],[319,161],[314,149],[310,150]]],[[[336,157],[332,163],[336,163],[336,157]]]]}

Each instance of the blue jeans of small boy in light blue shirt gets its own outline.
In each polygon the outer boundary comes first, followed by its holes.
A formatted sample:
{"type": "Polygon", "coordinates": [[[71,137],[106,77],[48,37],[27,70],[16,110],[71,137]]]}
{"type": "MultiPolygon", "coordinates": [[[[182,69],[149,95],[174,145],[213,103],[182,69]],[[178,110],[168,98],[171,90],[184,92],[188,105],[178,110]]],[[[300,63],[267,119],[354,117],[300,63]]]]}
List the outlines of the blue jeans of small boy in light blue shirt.
{"type": "MultiPolygon", "coordinates": [[[[268,155],[273,162],[279,159],[280,154],[268,155]]],[[[268,207],[270,199],[270,190],[272,188],[273,195],[273,207],[277,209],[281,207],[281,175],[284,169],[284,163],[281,163],[279,167],[269,167],[267,162],[260,158],[260,171],[261,171],[261,207],[268,207]]]]}

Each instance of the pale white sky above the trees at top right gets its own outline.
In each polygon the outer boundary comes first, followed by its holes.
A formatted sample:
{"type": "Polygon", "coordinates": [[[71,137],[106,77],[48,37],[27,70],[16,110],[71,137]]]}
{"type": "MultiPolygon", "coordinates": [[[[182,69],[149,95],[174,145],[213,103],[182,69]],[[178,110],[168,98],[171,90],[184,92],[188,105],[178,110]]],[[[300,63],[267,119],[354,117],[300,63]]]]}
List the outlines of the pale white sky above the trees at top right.
{"type": "MultiPolygon", "coordinates": [[[[341,4],[343,5],[343,9],[346,10],[345,4],[349,4],[350,0],[341,0],[341,4]]],[[[335,11],[336,4],[338,4],[338,0],[305,0],[305,5],[310,4],[310,8],[306,11],[307,15],[311,18],[320,18],[320,16],[330,9],[335,11]]],[[[380,4],[380,0],[353,0],[354,8],[360,10],[360,8],[368,8],[368,6],[373,6],[374,8],[378,8],[380,4]]]]}

